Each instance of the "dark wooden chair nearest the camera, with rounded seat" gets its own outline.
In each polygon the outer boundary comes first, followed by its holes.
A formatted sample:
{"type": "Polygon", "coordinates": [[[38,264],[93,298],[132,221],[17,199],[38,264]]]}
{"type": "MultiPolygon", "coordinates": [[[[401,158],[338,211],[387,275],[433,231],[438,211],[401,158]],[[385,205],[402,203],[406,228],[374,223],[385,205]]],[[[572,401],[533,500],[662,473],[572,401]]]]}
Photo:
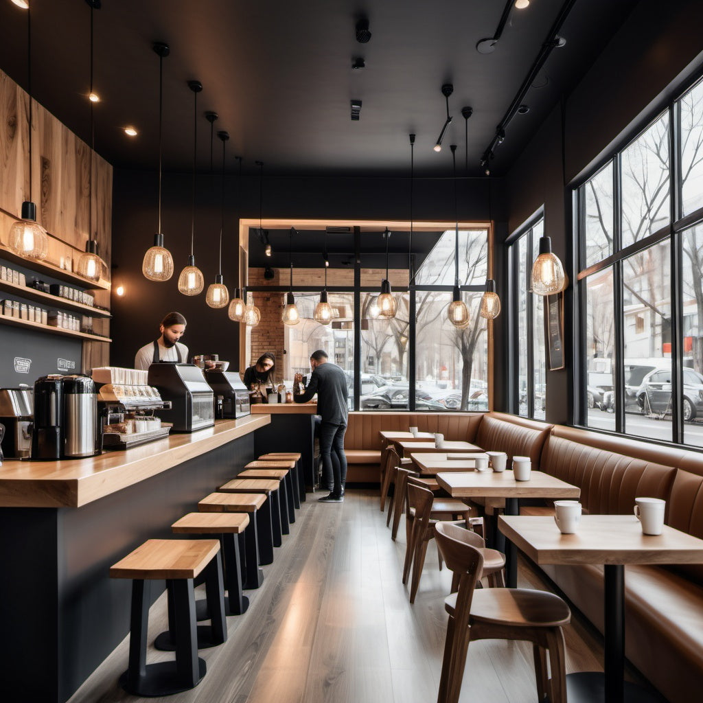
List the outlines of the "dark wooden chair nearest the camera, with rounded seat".
{"type": "Polygon", "coordinates": [[[449,613],[437,703],[458,703],[470,640],[527,640],[533,645],[538,700],[567,703],[564,633],[569,606],[554,593],[527,588],[484,588],[476,584],[484,557],[467,531],[448,522],[434,527],[437,548],[459,575],[458,592],[444,600],[449,613]],[[546,672],[548,653],[551,678],[546,672]]]}

